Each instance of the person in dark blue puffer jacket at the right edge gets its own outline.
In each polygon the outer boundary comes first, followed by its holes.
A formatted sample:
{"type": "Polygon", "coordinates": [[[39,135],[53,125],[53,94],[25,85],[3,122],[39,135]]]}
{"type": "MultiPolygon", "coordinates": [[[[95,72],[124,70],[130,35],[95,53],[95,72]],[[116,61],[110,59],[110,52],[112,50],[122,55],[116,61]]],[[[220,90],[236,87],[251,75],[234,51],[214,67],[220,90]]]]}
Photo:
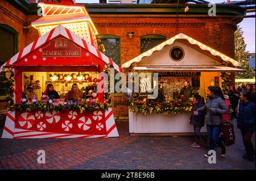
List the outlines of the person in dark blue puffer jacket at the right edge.
{"type": "Polygon", "coordinates": [[[237,127],[241,129],[245,145],[246,154],[243,158],[255,161],[255,149],[251,142],[251,136],[255,132],[255,92],[243,91],[240,100],[237,127]]]}

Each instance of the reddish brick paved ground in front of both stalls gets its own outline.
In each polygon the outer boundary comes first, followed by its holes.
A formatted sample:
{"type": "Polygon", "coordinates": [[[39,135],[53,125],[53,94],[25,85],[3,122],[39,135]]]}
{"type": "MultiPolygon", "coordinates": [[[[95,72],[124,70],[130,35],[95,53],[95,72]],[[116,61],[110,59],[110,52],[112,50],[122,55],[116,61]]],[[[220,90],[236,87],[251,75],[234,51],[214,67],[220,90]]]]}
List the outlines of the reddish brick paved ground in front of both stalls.
{"type": "Polygon", "coordinates": [[[255,169],[255,162],[242,159],[238,130],[226,157],[218,149],[217,163],[209,164],[207,149],[189,146],[193,137],[130,137],[128,129],[119,123],[119,138],[0,139],[0,169],[255,169]],[[46,164],[37,163],[41,149],[46,164]]]}

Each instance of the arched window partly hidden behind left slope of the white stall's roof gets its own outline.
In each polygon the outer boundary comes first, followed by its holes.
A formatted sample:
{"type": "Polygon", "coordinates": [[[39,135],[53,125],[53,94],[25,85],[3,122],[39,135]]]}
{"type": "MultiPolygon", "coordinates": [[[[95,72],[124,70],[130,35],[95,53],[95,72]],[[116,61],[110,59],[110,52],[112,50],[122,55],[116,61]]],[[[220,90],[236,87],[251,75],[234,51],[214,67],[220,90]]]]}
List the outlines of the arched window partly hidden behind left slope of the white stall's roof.
{"type": "Polygon", "coordinates": [[[146,35],[141,37],[141,53],[159,45],[166,40],[166,36],[162,35],[146,35]]]}

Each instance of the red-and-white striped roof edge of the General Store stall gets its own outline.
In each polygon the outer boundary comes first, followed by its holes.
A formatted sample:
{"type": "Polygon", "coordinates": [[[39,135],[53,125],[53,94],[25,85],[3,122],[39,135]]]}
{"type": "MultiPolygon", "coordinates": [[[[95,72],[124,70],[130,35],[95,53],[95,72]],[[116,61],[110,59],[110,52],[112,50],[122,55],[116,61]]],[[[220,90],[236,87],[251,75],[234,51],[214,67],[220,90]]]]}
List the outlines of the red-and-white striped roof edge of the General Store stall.
{"type": "Polygon", "coordinates": [[[1,66],[1,70],[3,66],[9,66],[13,65],[16,61],[20,60],[30,52],[34,51],[35,49],[38,49],[43,44],[47,43],[48,41],[54,39],[55,37],[62,35],[66,37],[67,39],[73,41],[77,45],[80,45],[82,48],[85,48],[90,53],[94,54],[94,56],[100,58],[102,61],[106,62],[106,64],[113,65],[114,69],[118,72],[122,72],[122,68],[120,68],[115,62],[113,62],[109,57],[105,56],[104,53],[100,52],[97,48],[93,47],[93,45],[86,43],[84,39],[77,36],[75,33],[69,31],[67,28],[59,25],[55,28],[53,28],[51,31],[47,32],[45,35],[40,36],[38,39],[33,41],[31,44],[27,45],[27,47],[20,50],[20,52],[16,53],[13,57],[11,57],[5,64],[1,66]]]}

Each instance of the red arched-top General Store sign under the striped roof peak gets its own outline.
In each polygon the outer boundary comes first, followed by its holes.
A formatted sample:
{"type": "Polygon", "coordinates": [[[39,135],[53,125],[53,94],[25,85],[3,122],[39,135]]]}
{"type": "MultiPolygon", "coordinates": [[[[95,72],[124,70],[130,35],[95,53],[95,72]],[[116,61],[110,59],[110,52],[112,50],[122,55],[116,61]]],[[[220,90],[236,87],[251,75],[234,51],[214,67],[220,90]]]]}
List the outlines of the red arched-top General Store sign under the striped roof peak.
{"type": "Polygon", "coordinates": [[[81,48],[68,39],[55,39],[42,48],[43,57],[81,57],[81,48]]]}

